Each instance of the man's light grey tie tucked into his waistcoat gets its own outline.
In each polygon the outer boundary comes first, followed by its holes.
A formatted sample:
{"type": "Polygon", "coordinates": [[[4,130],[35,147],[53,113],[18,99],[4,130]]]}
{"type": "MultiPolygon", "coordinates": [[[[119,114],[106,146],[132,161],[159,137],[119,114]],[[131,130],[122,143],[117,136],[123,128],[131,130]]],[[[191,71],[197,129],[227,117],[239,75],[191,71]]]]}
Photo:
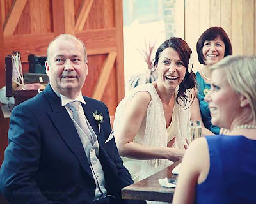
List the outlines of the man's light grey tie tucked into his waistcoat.
{"type": "Polygon", "coordinates": [[[77,124],[80,126],[80,128],[83,130],[84,134],[88,136],[90,142],[92,145],[94,144],[94,140],[92,137],[92,133],[90,133],[90,130],[88,128],[88,125],[86,121],[83,122],[83,115],[79,112],[79,101],[73,101],[68,103],[68,108],[72,110],[73,113],[73,119],[77,122],[77,124]]]}

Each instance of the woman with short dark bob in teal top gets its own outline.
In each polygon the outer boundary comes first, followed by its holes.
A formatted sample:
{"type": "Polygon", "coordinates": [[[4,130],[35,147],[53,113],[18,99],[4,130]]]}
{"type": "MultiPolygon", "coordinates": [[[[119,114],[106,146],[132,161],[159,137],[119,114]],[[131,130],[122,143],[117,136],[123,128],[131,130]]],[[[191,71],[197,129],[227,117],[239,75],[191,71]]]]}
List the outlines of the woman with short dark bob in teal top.
{"type": "Polygon", "coordinates": [[[218,134],[220,128],[212,125],[208,103],[204,100],[204,97],[211,87],[211,72],[209,67],[227,55],[232,55],[232,45],[227,33],[221,27],[210,27],[198,39],[196,50],[198,60],[200,64],[203,64],[203,68],[196,73],[198,101],[202,121],[204,122],[205,128],[214,134],[218,134]]]}

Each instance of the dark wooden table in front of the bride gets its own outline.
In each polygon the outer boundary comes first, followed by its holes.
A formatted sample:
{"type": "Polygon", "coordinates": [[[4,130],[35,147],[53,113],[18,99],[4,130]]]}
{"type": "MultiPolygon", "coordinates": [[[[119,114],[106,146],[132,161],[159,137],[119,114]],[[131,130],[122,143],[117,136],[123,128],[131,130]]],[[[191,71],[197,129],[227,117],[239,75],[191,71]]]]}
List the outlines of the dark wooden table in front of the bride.
{"type": "Polygon", "coordinates": [[[123,199],[133,200],[152,200],[172,203],[173,193],[175,188],[166,188],[159,184],[158,179],[172,178],[172,170],[180,161],[168,166],[146,179],[143,179],[135,184],[124,187],[122,189],[123,199]]]}

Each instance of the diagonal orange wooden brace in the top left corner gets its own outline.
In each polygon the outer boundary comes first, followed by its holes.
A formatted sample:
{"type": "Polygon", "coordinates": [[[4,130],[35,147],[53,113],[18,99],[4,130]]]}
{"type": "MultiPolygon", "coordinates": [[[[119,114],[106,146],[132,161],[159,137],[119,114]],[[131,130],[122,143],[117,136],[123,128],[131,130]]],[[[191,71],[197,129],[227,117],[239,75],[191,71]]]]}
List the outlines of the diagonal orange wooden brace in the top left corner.
{"type": "Polygon", "coordinates": [[[27,0],[13,1],[10,15],[6,18],[6,22],[4,23],[4,36],[9,36],[14,33],[26,3],[27,0]]]}

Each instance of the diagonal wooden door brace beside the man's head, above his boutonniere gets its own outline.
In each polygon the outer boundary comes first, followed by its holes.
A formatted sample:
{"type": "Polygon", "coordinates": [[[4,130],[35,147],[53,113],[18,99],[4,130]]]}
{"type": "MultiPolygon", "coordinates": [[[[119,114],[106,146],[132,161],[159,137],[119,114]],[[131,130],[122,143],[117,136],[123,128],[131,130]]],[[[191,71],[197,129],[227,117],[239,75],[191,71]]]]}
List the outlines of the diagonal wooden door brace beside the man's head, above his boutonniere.
{"type": "Polygon", "coordinates": [[[104,90],[106,88],[107,82],[109,80],[109,75],[116,61],[117,52],[110,52],[108,57],[105,59],[102,69],[100,71],[99,79],[93,90],[92,98],[101,100],[104,90]]]}

